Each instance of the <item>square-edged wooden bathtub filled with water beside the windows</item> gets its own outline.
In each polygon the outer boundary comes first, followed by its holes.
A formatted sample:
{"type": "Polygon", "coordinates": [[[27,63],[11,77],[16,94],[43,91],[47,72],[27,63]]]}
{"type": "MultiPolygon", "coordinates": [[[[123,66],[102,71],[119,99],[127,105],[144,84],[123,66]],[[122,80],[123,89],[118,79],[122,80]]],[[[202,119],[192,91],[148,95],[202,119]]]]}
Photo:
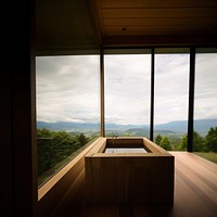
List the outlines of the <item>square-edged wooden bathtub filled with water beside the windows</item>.
{"type": "Polygon", "coordinates": [[[104,138],[86,155],[85,173],[88,204],[174,203],[174,156],[146,138],[104,138]]]}

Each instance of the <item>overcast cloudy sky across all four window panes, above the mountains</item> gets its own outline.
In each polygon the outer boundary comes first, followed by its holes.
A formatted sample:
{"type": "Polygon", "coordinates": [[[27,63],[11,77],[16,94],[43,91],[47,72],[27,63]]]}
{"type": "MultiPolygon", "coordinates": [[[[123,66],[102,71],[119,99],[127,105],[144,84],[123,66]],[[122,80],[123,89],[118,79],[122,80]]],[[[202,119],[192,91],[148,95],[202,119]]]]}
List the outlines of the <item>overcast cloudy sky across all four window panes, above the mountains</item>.
{"type": "MultiPolygon", "coordinates": [[[[100,122],[100,58],[37,56],[37,120],[100,122]]],[[[217,118],[217,54],[196,55],[195,118],[217,118]]],[[[105,55],[105,122],[148,125],[151,55],[105,55]]],[[[189,54],[155,59],[155,124],[188,117],[189,54]]]]}

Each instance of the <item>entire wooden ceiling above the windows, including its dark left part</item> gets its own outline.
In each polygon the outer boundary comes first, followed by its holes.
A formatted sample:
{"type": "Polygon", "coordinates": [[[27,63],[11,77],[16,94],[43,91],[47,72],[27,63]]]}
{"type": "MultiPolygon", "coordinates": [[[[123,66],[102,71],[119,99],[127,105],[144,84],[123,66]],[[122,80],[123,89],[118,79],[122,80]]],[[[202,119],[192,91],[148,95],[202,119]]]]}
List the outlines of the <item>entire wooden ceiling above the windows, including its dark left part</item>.
{"type": "Polygon", "coordinates": [[[38,50],[216,44],[217,0],[36,0],[38,50]]]}

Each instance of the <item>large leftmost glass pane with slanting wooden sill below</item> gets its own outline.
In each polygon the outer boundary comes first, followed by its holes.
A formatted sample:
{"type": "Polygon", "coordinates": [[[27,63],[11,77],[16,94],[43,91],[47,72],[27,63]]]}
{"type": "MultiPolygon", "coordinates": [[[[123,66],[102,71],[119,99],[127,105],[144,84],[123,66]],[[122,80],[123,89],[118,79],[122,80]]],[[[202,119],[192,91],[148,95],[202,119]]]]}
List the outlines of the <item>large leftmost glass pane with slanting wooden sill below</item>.
{"type": "Polygon", "coordinates": [[[39,186],[100,135],[99,61],[36,58],[39,186]]]}

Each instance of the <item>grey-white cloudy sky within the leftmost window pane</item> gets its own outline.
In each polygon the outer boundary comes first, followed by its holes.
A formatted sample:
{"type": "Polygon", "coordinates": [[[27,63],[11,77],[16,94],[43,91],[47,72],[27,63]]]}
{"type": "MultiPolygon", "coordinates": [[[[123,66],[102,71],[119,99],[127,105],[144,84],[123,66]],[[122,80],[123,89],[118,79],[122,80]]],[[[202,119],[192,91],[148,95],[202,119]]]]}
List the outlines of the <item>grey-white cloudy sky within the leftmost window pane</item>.
{"type": "Polygon", "coordinates": [[[37,58],[37,119],[99,122],[99,56],[37,58]]]}

